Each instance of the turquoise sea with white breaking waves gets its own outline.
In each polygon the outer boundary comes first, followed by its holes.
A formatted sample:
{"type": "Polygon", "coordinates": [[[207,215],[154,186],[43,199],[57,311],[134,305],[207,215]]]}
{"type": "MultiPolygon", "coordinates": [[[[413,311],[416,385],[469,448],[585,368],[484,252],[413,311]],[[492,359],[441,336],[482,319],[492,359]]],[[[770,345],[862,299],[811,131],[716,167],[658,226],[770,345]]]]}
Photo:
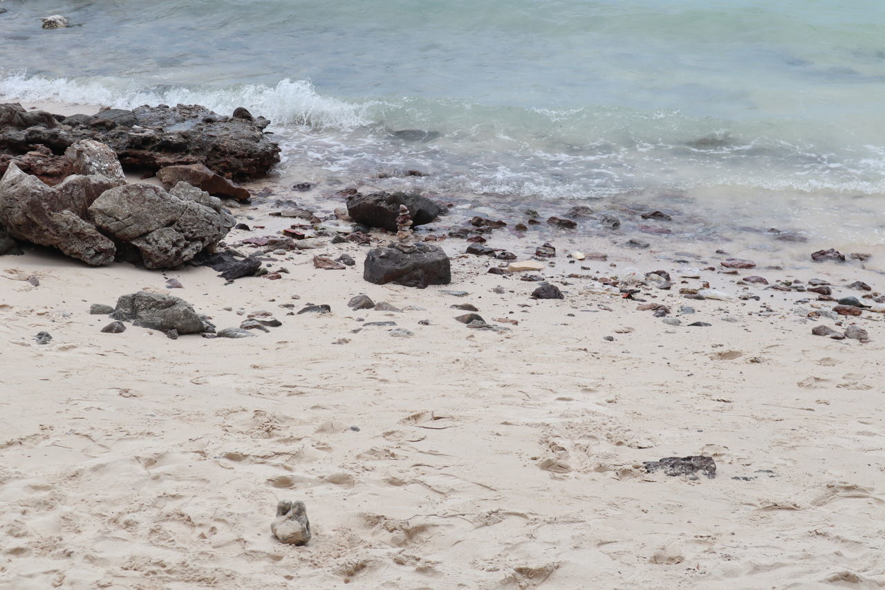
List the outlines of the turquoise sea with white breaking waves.
{"type": "Polygon", "coordinates": [[[877,1],[0,9],[0,97],[245,105],[282,126],[287,165],[330,175],[419,168],[428,190],[513,198],[758,189],[784,207],[797,192],[834,206],[885,193],[877,1]],[[43,31],[51,13],[75,26],[43,31]],[[439,136],[390,133],[406,128],[439,136]]]}

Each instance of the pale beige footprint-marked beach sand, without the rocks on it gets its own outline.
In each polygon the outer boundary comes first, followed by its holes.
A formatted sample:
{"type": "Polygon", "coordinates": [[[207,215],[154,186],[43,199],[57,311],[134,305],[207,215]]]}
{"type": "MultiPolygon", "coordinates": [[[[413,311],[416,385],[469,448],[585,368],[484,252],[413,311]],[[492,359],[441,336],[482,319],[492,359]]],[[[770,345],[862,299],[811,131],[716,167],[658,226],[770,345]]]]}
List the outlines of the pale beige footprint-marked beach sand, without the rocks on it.
{"type": "MultiPolygon", "coordinates": [[[[324,194],[335,187],[295,193],[291,180],[250,182],[274,192],[226,201],[236,221],[265,226],[234,230],[227,245],[248,253],[244,237],[289,224],[271,215],[276,198],[327,214],[342,206],[324,194]]],[[[445,235],[473,213],[488,212],[456,207],[418,235],[445,235]]],[[[496,229],[486,244],[527,260],[550,242],[557,256],[543,270],[490,275],[506,263],[446,237],[435,244],[451,257],[452,283],[424,290],[366,283],[367,248],[350,243],[267,253],[269,269],[287,269],[280,279],[229,284],[205,267],[89,268],[34,248],[4,256],[0,588],[881,583],[885,314],[839,316],[840,330],[855,323],[869,342],[821,338],[812,327],[835,321],[808,314],[835,302],[765,288],[824,278],[834,299],[862,298],[847,283],[879,292],[881,250],[868,268],[787,264],[818,250],[811,241],[787,254],[715,253],[713,242],[635,250],[620,245],[632,234],[547,229],[547,213],[543,232],[496,229]],[[608,258],[566,258],[572,250],[608,258]],[[340,253],[356,265],[312,264],[340,253]],[[727,274],[730,258],[756,267],[727,274]],[[631,267],[643,279],[666,271],[671,289],[622,299],[591,278],[623,279],[631,267]],[[697,278],[679,276],[689,267],[697,278]],[[529,274],[565,299],[531,299],[538,282],[520,280],[529,274]],[[738,284],[747,276],[768,285],[738,284]],[[184,288],[167,290],[167,278],[184,288]],[[758,299],[680,293],[704,281],[758,299]],[[237,340],[100,333],[109,320],[90,304],[143,288],[189,301],[219,329],[250,314],[282,325],[237,340]],[[402,311],[352,311],[359,293],[402,311]],[[451,306],[464,303],[506,330],[456,322],[465,312],[451,306]],[[332,313],[296,314],[312,304],[332,313]],[[670,313],[637,309],[648,304],[670,313]],[[413,336],[392,338],[394,328],[413,336]],[[35,343],[38,331],[49,344],[35,343]],[[715,460],[714,479],[643,469],[696,454],[715,460]],[[305,547],[270,534],[287,499],[307,505],[305,547]]]]}

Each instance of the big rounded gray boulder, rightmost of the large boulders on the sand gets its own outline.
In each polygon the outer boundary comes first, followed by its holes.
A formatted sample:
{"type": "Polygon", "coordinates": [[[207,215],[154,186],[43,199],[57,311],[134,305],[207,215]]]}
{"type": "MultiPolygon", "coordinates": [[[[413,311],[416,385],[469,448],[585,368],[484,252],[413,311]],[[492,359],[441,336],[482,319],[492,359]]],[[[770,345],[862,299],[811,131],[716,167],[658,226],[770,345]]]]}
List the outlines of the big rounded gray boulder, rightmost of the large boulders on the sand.
{"type": "Polygon", "coordinates": [[[234,227],[218,198],[179,182],[166,192],[153,184],[105,191],[89,207],[96,227],[134,245],[146,268],[173,268],[211,249],[234,227]]]}

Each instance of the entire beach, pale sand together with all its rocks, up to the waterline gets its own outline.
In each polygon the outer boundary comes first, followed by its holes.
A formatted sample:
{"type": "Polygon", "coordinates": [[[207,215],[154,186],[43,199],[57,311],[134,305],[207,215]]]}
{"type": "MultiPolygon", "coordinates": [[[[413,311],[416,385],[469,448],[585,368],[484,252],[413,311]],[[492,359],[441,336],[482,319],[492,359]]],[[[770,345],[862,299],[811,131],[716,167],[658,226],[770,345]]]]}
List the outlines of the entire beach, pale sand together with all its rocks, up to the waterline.
{"type": "Polygon", "coordinates": [[[879,252],[265,177],[267,124],[0,106],[0,587],[885,583],[879,252]]]}

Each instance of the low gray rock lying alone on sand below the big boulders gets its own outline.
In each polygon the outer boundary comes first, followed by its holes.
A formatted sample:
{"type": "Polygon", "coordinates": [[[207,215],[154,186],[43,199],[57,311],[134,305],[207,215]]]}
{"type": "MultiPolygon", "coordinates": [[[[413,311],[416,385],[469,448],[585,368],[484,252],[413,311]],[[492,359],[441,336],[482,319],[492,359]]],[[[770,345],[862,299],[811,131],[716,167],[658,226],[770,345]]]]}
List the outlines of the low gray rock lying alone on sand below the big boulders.
{"type": "Polygon", "coordinates": [[[111,317],[163,332],[177,330],[179,334],[196,334],[215,331],[212,323],[198,315],[184,299],[148,291],[121,296],[111,317]]]}

